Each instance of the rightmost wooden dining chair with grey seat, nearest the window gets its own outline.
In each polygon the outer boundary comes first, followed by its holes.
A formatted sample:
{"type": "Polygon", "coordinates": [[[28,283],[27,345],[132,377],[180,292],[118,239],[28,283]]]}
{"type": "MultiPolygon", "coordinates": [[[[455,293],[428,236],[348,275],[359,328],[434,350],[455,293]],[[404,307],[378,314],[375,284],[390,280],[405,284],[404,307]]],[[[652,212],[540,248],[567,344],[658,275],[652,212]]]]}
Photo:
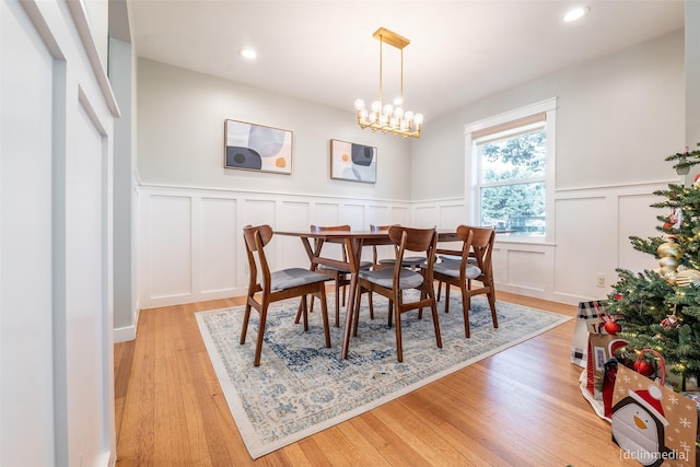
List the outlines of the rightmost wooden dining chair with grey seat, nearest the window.
{"type": "MultiPolygon", "coordinates": [[[[450,287],[456,285],[462,292],[462,308],[464,312],[464,332],[469,337],[469,308],[474,295],[486,294],[491,307],[493,327],[499,327],[495,316],[495,288],[493,285],[493,268],[491,253],[495,241],[493,227],[471,227],[459,225],[457,235],[464,242],[459,260],[443,260],[433,267],[433,277],[436,281],[444,282],[445,313],[450,313],[450,287]],[[472,281],[480,282],[475,287],[472,281]]],[[[442,252],[442,250],[441,250],[442,252]]],[[[454,254],[456,252],[446,252],[454,254]]],[[[440,285],[439,285],[440,287],[440,285]]]]}

